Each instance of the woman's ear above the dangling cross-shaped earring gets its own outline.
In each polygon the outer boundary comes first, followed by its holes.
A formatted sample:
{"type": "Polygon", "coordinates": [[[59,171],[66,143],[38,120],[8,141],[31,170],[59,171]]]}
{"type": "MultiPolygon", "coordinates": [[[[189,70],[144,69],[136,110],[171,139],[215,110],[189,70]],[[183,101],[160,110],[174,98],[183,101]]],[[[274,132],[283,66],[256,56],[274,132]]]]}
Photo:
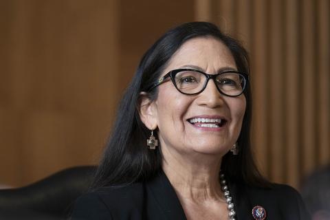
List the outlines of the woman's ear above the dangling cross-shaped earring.
{"type": "Polygon", "coordinates": [[[140,119],[149,130],[157,128],[157,113],[155,102],[148,97],[145,91],[142,91],[139,96],[137,110],[139,111],[140,119]]]}

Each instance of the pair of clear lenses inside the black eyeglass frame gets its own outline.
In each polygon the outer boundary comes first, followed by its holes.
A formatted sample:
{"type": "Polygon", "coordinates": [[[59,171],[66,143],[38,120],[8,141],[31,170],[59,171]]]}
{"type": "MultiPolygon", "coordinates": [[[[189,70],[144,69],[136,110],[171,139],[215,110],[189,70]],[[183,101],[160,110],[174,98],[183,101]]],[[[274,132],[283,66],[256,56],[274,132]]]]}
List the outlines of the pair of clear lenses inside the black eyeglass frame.
{"type": "MultiPolygon", "coordinates": [[[[207,76],[196,71],[182,71],[175,74],[175,84],[184,94],[196,94],[204,89],[207,76]]],[[[245,80],[241,74],[228,72],[219,74],[215,79],[218,89],[228,96],[238,96],[242,93],[245,80]]]]}

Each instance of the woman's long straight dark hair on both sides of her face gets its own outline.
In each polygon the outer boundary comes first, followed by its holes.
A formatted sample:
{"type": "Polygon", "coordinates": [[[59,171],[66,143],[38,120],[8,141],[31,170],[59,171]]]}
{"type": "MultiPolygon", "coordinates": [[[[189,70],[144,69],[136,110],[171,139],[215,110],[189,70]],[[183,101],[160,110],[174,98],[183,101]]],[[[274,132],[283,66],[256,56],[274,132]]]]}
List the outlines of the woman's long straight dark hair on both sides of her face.
{"type": "MultiPolygon", "coordinates": [[[[162,155],[159,149],[151,151],[147,148],[146,139],[150,131],[140,120],[137,110],[140,92],[147,91],[151,100],[157,98],[157,88],[151,89],[151,87],[162,74],[173,54],[189,39],[208,36],[219,39],[228,47],[239,72],[250,74],[248,53],[238,41],[223,34],[212,23],[184,23],[166,32],[146,51],[131,84],[124,93],[112,135],[104,150],[91,190],[146,181],[159,172],[162,155]]],[[[256,168],[250,146],[250,83],[244,91],[244,96],[247,106],[238,140],[239,155],[227,153],[222,159],[221,170],[228,179],[263,186],[265,180],[256,168]]]]}

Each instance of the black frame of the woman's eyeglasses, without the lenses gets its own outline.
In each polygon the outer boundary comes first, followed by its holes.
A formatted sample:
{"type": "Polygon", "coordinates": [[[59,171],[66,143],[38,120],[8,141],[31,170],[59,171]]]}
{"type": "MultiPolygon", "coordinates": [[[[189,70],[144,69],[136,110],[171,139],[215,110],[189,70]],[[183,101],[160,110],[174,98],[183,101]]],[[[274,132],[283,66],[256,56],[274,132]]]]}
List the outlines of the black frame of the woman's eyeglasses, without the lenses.
{"type": "Polygon", "coordinates": [[[205,72],[202,72],[198,69],[173,69],[170,72],[168,72],[167,74],[165,74],[164,76],[162,76],[161,78],[159,78],[159,80],[157,80],[157,83],[155,83],[155,85],[153,85],[149,91],[151,91],[152,89],[155,89],[155,87],[162,85],[162,83],[166,82],[165,79],[170,77],[170,79],[172,80],[173,85],[175,86],[175,88],[177,89],[177,91],[179,91],[181,94],[185,94],[185,95],[197,95],[197,94],[201,94],[201,92],[203,92],[206,87],[208,86],[208,81],[212,78],[215,87],[217,87],[218,91],[220,94],[222,94],[223,96],[229,96],[229,97],[237,97],[237,96],[241,96],[241,94],[243,94],[246,85],[248,85],[248,81],[250,79],[248,74],[242,73],[242,72],[238,72],[238,71],[234,71],[234,70],[226,70],[224,72],[220,72],[219,74],[206,74],[205,72]],[[183,72],[183,71],[193,71],[193,72],[199,72],[200,74],[203,74],[204,76],[206,76],[206,83],[203,85],[203,89],[201,89],[201,91],[195,93],[195,94],[186,94],[183,91],[181,91],[178,87],[177,87],[177,83],[175,83],[175,75],[179,72],[183,72]],[[219,89],[216,78],[217,76],[221,75],[221,74],[228,74],[228,73],[234,73],[234,74],[239,74],[240,76],[243,76],[244,79],[244,87],[242,88],[242,91],[240,94],[235,95],[235,96],[230,96],[228,94],[225,94],[223,91],[221,91],[221,89],[219,89]]]}

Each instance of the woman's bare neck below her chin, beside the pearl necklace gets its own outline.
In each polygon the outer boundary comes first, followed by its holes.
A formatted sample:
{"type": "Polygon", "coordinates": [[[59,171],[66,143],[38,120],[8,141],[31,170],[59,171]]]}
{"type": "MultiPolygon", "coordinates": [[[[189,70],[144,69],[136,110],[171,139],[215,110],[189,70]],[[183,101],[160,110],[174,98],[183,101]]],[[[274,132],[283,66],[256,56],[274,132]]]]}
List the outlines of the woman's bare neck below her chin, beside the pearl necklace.
{"type": "Polygon", "coordinates": [[[163,152],[162,168],[180,200],[194,203],[223,200],[219,183],[221,157],[198,155],[193,157],[168,155],[163,152]]]}

